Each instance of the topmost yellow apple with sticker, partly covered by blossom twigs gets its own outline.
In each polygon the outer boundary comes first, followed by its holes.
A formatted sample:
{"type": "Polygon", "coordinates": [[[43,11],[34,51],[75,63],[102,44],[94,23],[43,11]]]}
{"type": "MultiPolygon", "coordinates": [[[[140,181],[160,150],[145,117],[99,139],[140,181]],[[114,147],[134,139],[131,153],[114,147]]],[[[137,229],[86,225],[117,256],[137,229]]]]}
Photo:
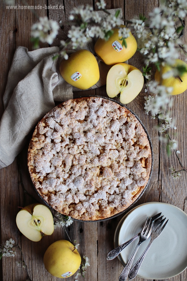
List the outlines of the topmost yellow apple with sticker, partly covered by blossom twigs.
{"type": "MultiPolygon", "coordinates": [[[[125,25],[121,25],[125,27],[125,25]]],[[[134,36],[129,32],[129,37],[126,38],[127,48],[122,47],[122,40],[118,35],[118,28],[114,28],[114,33],[108,41],[99,38],[94,46],[97,56],[99,56],[105,64],[113,65],[127,61],[136,52],[137,43],[134,36]]]]}

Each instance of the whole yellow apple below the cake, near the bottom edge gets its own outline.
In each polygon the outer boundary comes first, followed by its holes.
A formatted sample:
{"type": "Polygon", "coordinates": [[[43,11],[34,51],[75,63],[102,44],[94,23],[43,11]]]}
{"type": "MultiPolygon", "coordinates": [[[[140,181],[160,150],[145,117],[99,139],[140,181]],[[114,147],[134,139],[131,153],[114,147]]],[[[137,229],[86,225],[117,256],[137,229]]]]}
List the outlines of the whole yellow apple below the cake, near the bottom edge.
{"type": "Polygon", "coordinates": [[[51,244],[44,254],[44,266],[51,275],[66,278],[73,275],[81,264],[81,256],[67,240],[51,244]]]}

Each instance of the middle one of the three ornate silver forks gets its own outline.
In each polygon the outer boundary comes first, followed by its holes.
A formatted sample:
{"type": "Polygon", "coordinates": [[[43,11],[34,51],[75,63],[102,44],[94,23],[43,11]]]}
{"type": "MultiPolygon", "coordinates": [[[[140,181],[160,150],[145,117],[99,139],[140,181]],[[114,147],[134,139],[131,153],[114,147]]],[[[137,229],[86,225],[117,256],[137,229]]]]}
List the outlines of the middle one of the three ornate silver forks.
{"type": "Polygon", "coordinates": [[[151,220],[148,220],[148,217],[147,217],[147,220],[141,230],[141,233],[140,233],[140,240],[132,254],[132,256],[130,257],[128,263],[126,264],[126,266],[124,267],[122,273],[120,274],[120,277],[119,277],[119,281],[124,281],[127,279],[127,276],[129,274],[129,270],[131,268],[131,264],[134,260],[134,257],[136,255],[136,252],[138,251],[138,248],[140,246],[140,244],[145,241],[146,239],[148,239],[148,237],[150,236],[151,234],[151,231],[153,229],[153,225],[154,225],[154,221],[151,223],[151,220]]]}

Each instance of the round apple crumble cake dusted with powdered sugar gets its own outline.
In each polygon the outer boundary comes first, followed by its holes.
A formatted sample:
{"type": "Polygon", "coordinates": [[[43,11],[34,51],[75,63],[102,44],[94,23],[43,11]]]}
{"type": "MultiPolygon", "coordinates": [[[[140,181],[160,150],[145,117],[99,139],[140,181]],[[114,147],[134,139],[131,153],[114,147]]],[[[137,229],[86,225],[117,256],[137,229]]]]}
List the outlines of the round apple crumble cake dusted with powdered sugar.
{"type": "Polygon", "coordinates": [[[40,196],[80,220],[111,217],[129,207],[148,183],[151,150],[142,125],[101,97],[68,100],[37,124],[28,168],[40,196]]]}

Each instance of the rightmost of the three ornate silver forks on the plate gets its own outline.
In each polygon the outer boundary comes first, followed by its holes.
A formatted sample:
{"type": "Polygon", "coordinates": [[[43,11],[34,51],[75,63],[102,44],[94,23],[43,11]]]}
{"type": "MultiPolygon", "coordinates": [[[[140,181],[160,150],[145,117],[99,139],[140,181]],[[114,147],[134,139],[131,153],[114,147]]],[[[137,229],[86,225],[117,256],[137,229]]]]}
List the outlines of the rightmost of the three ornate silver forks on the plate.
{"type": "Polygon", "coordinates": [[[136,277],[138,270],[140,268],[141,263],[143,262],[143,259],[145,258],[151,244],[153,243],[153,241],[161,234],[162,230],[165,228],[168,220],[165,222],[165,224],[162,226],[163,222],[165,221],[166,218],[164,218],[163,220],[161,220],[161,222],[155,222],[155,225],[153,227],[153,231],[151,233],[151,240],[147,246],[147,248],[145,249],[145,251],[143,252],[143,254],[141,255],[141,257],[139,258],[139,260],[135,263],[135,265],[133,266],[133,268],[131,269],[130,273],[129,273],[129,280],[132,280],[136,277]]]}

